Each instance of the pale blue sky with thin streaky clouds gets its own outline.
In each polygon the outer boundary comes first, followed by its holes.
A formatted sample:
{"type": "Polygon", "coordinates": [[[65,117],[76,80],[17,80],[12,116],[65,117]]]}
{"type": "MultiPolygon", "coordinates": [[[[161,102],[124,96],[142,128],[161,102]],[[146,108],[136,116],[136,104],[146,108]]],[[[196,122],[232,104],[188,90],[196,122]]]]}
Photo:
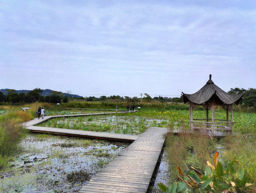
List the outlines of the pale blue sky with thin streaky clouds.
{"type": "Polygon", "coordinates": [[[255,0],[0,0],[0,89],[180,97],[256,88],[255,0]]]}

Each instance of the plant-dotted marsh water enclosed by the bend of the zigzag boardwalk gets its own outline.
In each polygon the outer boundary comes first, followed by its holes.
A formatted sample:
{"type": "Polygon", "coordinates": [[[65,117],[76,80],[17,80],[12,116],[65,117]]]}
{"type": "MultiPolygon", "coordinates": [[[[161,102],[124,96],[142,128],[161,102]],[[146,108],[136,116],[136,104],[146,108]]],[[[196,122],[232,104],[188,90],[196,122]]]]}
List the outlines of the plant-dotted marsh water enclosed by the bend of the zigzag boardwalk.
{"type": "Polygon", "coordinates": [[[167,127],[167,121],[139,116],[99,115],[56,118],[39,126],[140,135],[151,126],[167,127]]]}

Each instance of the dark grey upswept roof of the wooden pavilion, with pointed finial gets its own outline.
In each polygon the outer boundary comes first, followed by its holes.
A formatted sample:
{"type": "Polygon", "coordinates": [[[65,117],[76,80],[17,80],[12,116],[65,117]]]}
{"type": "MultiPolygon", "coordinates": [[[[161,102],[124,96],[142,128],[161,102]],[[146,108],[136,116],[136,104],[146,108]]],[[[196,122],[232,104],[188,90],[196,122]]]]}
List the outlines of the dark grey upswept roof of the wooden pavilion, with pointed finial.
{"type": "Polygon", "coordinates": [[[207,81],[206,85],[204,85],[199,91],[195,92],[194,94],[184,94],[182,92],[182,98],[184,103],[191,101],[196,104],[202,104],[210,99],[217,98],[223,103],[230,105],[232,103],[238,104],[242,99],[242,94],[229,94],[223,91],[214,84],[210,75],[210,79],[207,81]]]}

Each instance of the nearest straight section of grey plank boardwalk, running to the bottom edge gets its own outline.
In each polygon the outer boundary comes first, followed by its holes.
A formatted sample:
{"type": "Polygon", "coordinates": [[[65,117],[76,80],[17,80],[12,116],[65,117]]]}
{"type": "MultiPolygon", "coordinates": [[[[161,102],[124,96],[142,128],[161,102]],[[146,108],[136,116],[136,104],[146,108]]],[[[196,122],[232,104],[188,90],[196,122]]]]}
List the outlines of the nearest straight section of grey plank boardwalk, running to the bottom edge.
{"type": "Polygon", "coordinates": [[[84,185],[81,193],[145,193],[167,128],[150,127],[84,185]]]}

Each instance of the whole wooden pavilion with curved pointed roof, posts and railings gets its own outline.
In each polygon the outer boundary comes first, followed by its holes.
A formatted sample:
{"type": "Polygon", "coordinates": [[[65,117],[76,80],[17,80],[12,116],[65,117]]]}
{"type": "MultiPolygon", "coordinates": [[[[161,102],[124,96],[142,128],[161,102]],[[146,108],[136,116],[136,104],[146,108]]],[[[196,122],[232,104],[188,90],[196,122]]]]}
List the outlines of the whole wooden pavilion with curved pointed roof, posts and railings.
{"type": "Polygon", "coordinates": [[[216,86],[210,79],[199,91],[194,94],[184,94],[182,92],[184,103],[189,102],[189,122],[190,130],[202,130],[208,132],[211,136],[225,136],[227,133],[233,133],[233,103],[238,104],[242,99],[242,94],[229,94],[216,86]],[[197,106],[206,109],[206,118],[193,119],[193,110],[197,106]],[[226,120],[214,118],[214,110],[222,107],[226,110],[226,120]],[[209,111],[211,117],[209,117],[209,111]],[[230,111],[230,116],[229,116],[230,111]]]}

